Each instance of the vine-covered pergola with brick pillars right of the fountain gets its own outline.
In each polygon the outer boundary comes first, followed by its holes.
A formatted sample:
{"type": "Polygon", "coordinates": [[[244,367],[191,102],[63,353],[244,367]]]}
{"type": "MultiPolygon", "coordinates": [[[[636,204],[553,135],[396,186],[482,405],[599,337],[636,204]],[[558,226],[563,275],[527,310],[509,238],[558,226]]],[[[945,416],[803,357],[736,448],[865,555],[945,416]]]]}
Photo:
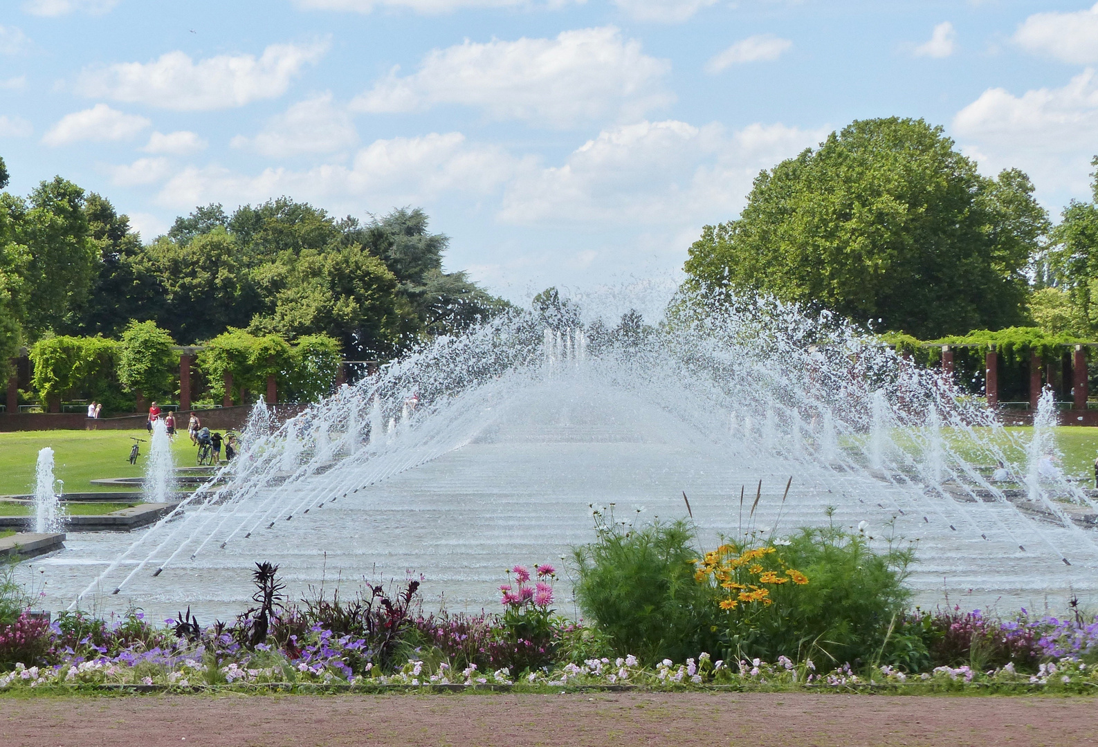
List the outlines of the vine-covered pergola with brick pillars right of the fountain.
{"type": "Polygon", "coordinates": [[[887,342],[905,356],[939,365],[945,376],[986,396],[988,406],[1026,403],[1037,408],[1045,386],[1056,399],[1085,410],[1090,391],[1088,351],[1094,340],[1051,335],[1038,327],[975,330],[960,337],[918,340],[888,335],[887,342]]]}

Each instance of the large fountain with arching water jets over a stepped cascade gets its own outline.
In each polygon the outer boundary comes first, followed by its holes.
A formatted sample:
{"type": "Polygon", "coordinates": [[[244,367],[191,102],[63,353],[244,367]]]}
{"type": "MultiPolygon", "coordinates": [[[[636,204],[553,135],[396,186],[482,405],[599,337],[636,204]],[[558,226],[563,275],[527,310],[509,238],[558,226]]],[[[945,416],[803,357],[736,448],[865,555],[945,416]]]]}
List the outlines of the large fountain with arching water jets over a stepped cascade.
{"type": "Polygon", "coordinates": [[[171,514],[79,535],[40,563],[47,595],[225,619],[251,593],[253,562],[270,561],[290,595],[412,570],[428,603],[434,589],[450,610],[491,609],[501,568],[593,539],[591,506],[668,520],[686,516],[685,493],[712,543],[748,531],[740,488],[761,480],[757,531],[833,522],[914,543],[923,603],[943,591],[973,607],[1098,601],[1098,536],[1078,520],[1095,510],[1089,491],[1011,461],[1054,456],[1040,417],[1033,439],[1005,429],[937,371],[828,315],[688,296],[669,309],[641,328],[614,328],[593,302],[514,312],[287,421],[260,403],[240,456],[171,514]],[[1021,487],[991,479],[999,461],[1021,487]]]}

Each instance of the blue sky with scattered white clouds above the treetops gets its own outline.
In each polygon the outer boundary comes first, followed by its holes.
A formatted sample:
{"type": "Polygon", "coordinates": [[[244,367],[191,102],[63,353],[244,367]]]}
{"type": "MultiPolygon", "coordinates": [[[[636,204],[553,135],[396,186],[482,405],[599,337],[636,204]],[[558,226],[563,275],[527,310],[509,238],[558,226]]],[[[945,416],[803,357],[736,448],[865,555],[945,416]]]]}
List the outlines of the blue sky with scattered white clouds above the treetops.
{"type": "Polygon", "coordinates": [[[211,202],[421,206],[448,271],[518,299],[675,278],[855,118],[941,125],[1055,218],[1089,199],[1096,68],[1085,1],[3,0],[0,156],[145,240],[211,202]]]}

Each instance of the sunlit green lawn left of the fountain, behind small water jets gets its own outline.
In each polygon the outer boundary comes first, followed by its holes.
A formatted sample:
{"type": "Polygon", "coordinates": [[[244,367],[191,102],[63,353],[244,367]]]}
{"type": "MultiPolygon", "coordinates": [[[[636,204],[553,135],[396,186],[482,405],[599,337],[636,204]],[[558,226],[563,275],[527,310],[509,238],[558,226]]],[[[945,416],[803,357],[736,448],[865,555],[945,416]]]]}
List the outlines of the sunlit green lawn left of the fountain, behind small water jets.
{"type": "MultiPolygon", "coordinates": [[[[20,431],[0,433],[0,496],[34,493],[34,467],[43,446],[54,450],[54,475],[65,480],[65,493],[110,493],[130,488],[92,485],[104,477],[141,477],[145,472],[149,435],[133,431],[20,431]],[[130,437],[144,439],[137,464],[130,464],[130,437]]],[[[194,466],[197,449],[186,433],[176,437],[172,453],[178,466],[194,466]]],[[[134,486],[136,488],[137,486],[134,486]]]]}

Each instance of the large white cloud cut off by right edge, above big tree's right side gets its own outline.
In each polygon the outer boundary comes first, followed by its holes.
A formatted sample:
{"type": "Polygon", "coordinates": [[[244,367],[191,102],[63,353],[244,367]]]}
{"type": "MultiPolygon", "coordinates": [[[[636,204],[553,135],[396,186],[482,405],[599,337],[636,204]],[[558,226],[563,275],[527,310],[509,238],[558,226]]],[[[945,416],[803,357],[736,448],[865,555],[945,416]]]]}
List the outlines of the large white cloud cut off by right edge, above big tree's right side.
{"type": "Polygon", "coordinates": [[[1019,167],[1047,192],[1086,193],[1098,148],[1098,76],[1087,69],[1063,88],[1020,97],[988,89],[957,112],[953,131],[987,171],[1019,167]]]}

